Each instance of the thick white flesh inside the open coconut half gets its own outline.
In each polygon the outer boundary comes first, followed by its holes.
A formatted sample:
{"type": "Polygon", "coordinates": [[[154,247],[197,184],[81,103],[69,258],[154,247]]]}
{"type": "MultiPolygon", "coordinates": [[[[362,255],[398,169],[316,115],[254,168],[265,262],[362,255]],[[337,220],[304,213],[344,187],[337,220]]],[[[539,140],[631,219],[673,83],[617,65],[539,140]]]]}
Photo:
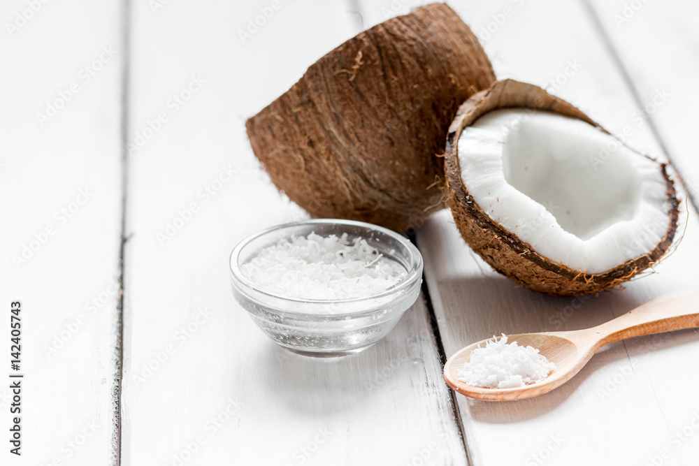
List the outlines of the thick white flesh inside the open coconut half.
{"type": "Polygon", "coordinates": [[[459,163],[493,221],[568,268],[612,270],[652,252],[668,229],[658,163],[580,119],[489,112],[461,133],[459,163]]]}

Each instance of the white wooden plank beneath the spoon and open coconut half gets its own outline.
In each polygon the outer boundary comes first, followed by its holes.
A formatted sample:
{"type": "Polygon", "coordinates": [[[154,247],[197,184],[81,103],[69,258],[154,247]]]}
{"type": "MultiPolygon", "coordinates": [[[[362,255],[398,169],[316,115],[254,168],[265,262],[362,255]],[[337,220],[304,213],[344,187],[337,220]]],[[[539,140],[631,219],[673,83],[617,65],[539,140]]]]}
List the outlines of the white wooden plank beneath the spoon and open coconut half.
{"type": "MultiPolygon", "coordinates": [[[[391,2],[363,4],[364,18],[372,24],[383,19],[382,9],[391,2]]],[[[582,6],[509,0],[449,4],[487,39],[484,47],[498,75],[548,87],[612,132],[629,126],[631,145],[661,155],[647,123],[634,119],[635,102],[582,6]]],[[[652,31],[644,29],[649,41],[652,31]]],[[[432,217],[418,238],[448,356],[501,332],[592,326],[663,291],[696,286],[692,264],[699,254],[698,235],[692,215],[684,242],[655,275],[588,299],[549,298],[516,288],[470,252],[449,212],[432,217]]],[[[693,421],[699,408],[697,337],[690,330],[613,344],[568,384],[532,400],[492,403],[459,396],[473,463],[693,464],[699,452],[699,430],[691,425],[698,423],[693,421]],[[683,429],[685,440],[676,433],[683,429]]]]}

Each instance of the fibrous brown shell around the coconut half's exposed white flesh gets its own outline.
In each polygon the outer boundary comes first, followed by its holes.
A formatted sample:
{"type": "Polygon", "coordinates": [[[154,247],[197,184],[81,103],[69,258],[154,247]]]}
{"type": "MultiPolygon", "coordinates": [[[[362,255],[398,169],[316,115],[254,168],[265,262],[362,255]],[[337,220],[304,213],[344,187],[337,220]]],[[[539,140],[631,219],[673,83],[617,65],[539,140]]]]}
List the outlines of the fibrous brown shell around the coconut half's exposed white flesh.
{"type": "Polygon", "coordinates": [[[665,177],[668,203],[671,206],[668,230],[653,251],[632,259],[617,268],[589,274],[547,259],[517,235],[493,221],[468,193],[461,178],[458,141],[461,131],[491,110],[528,108],[546,110],[575,117],[598,126],[582,111],[535,85],[514,80],[498,81],[490,89],[468,99],[449,128],[445,171],[447,207],[452,210],[456,226],[468,245],[495,270],[533,291],[554,296],[598,293],[622,284],[654,265],[670,250],[677,234],[679,201],[665,163],[658,168],[665,177]]]}

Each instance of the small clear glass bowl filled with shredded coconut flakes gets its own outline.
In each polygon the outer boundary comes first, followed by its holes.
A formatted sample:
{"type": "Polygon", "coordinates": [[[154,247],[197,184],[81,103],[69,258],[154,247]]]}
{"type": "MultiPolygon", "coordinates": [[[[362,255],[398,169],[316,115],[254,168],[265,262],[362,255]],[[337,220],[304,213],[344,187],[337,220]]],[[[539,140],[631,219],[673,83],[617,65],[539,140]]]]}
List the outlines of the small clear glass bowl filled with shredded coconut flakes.
{"type": "Polygon", "coordinates": [[[361,221],[317,219],[268,228],[240,242],[230,259],[233,296],[272,340],[305,356],[337,357],[357,353],[379,341],[412,306],[422,283],[422,256],[398,233],[361,221]],[[240,266],[262,249],[309,233],[349,240],[361,236],[372,247],[405,268],[401,282],[361,298],[304,300],[262,289],[243,275],[240,266]]]}

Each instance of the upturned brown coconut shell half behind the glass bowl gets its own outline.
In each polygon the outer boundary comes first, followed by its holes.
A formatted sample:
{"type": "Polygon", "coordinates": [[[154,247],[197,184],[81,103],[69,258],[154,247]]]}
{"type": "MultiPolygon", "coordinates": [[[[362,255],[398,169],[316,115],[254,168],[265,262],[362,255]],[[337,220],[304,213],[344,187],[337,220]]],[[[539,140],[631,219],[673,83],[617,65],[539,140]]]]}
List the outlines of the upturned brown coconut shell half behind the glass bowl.
{"type": "Polygon", "coordinates": [[[468,26],[432,3],[326,54],[247,135],[276,187],[312,216],[403,231],[442,207],[435,154],[459,105],[495,79],[468,26]]]}

